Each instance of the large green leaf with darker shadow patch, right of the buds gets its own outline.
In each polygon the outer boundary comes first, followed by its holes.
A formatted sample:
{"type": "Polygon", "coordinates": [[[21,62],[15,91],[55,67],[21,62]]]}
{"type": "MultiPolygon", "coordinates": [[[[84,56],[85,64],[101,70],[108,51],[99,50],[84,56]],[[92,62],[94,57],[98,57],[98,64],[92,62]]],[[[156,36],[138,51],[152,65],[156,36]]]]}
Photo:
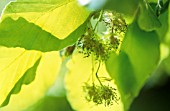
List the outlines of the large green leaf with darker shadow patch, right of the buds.
{"type": "Polygon", "coordinates": [[[128,28],[122,51],[106,62],[109,74],[118,86],[124,109],[138,95],[159,61],[159,39],[155,32],[145,32],[134,22],[128,28]]]}

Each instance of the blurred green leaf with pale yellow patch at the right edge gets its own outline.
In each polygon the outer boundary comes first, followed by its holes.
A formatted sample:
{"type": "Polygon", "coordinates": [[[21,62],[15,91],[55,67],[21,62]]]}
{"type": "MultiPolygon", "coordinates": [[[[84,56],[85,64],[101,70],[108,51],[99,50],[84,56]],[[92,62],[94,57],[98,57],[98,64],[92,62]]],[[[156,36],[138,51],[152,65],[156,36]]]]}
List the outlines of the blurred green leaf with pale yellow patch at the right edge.
{"type": "Polygon", "coordinates": [[[164,13],[161,13],[159,16],[159,20],[161,24],[163,24],[160,28],[156,30],[159,35],[161,41],[161,68],[168,74],[170,73],[170,8],[168,8],[164,13]],[[169,55],[169,56],[168,56],[169,55]]]}

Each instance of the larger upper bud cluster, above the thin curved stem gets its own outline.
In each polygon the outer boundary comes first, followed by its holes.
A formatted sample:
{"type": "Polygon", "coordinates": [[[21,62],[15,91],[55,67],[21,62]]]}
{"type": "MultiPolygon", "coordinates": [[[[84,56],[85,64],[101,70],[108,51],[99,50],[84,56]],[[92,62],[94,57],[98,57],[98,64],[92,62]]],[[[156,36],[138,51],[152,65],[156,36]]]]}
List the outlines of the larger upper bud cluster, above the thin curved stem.
{"type": "Polygon", "coordinates": [[[79,38],[77,48],[85,57],[93,54],[96,60],[106,61],[111,52],[120,51],[126,30],[127,24],[121,14],[111,11],[96,12],[89,20],[86,32],[79,38]],[[96,18],[97,22],[93,25],[96,18]],[[100,23],[106,29],[103,32],[97,30],[100,23]]]}

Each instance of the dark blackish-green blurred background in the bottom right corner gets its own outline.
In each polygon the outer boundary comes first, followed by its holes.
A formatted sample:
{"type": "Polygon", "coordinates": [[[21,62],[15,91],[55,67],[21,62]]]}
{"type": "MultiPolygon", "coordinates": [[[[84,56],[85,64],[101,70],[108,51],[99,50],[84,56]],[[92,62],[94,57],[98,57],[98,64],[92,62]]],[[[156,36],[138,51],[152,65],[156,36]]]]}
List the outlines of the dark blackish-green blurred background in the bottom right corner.
{"type": "Polygon", "coordinates": [[[170,111],[170,77],[164,73],[154,85],[151,79],[133,101],[129,111],[170,111]]]}

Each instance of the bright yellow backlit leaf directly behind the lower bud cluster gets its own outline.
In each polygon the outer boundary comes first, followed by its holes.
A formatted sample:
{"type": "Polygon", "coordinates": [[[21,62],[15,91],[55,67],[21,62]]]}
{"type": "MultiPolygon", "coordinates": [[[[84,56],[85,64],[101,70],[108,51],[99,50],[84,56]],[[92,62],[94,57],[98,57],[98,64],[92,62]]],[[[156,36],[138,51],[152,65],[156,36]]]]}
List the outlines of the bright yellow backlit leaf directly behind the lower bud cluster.
{"type": "MultiPolygon", "coordinates": [[[[76,111],[123,111],[123,104],[121,100],[118,101],[118,104],[113,101],[113,105],[105,106],[104,104],[96,105],[94,102],[88,102],[85,99],[86,93],[83,91],[85,83],[92,84],[93,81],[95,84],[99,85],[99,82],[95,78],[95,71],[98,64],[93,64],[93,62],[97,61],[92,60],[91,56],[88,58],[84,58],[83,56],[83,54],[74,54],[72,56],[72,60],[67,64],[69,73],[66,75],[65,83],[67,98],[71,106],[76,111]]],[[[100,66],[98,75],[99,77],[106,77],[110,79],[104,63],[100,66]]],[[[103,84],[117,89],[117,86],[114,84],[114,78],[110,82],[104,81],[103,84]]],[[[116,90],[116,93],[120,97],[118,90],[116,90]]]]}

